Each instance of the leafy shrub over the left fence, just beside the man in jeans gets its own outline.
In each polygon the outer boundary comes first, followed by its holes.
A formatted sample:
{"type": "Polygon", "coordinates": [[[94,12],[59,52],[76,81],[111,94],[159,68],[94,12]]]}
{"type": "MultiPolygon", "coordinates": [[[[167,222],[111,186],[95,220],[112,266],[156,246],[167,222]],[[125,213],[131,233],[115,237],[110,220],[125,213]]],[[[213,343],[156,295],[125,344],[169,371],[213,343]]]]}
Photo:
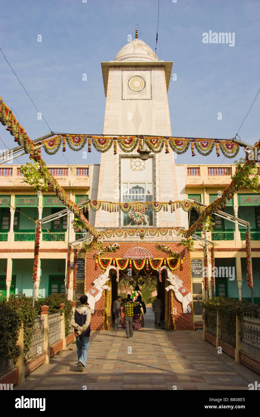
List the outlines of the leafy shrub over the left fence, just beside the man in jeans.
{"type": "Polygon", "coordinates": [[[65,317],[65,336],[68,336],[69,334],[69,327],[71,322],[71,310],[72,310],[72,301],[68,300],[68,297],[66,294],[59,294],[55,293],[52,295],[48,295],[45,297],[45,299],[39,299],[38,301],[35,301],[35,310],[40,314],[41,306],[49,306],[49,313],[60,313],[62,315],[62,312],[64,311],[64,317],[65,317]],[[64,308],[61,310],[61,303],[64,303],[64,308]]]}

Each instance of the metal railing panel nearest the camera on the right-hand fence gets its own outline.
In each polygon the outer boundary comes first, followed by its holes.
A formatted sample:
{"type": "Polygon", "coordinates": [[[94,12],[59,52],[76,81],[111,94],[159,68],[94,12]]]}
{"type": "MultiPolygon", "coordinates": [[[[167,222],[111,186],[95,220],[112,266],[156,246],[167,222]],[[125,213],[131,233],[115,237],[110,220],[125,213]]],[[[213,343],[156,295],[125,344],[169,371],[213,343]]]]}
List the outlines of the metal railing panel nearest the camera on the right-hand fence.
{"type": "Polygon", "coordinates": [[[260,359],[260,319],[242,318],[241,342],[244,352],[260,359]]]}

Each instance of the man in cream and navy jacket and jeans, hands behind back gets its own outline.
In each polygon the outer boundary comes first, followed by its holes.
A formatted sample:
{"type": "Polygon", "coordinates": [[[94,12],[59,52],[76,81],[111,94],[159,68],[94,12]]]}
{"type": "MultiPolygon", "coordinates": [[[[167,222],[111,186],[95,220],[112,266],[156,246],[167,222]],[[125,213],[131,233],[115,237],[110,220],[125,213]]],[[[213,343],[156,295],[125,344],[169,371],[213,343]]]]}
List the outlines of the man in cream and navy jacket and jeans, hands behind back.
{"type": "Polygon", "coordinates": [[[88,358],[91,309],[88,306],[88,297],[86,295],[82,295],[79,301],[81,305],[76,307],[71,315],[71,326],[74,327],[78,348],[78,371],[83,372],[88,358]]]}

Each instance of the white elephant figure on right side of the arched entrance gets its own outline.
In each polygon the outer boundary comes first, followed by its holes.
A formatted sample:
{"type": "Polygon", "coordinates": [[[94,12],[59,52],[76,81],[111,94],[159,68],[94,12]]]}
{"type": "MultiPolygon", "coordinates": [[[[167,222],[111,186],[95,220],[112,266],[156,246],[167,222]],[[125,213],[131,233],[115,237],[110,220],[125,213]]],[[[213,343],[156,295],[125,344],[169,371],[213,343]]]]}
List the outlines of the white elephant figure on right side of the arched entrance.
{"type": "Polygon", "coordinates": [[[167,275],[168,275],[167,281],[170,281],[170,283],[172,284],[165,288],[166,291],[169,291],[170,289],[172,289],[172,291],[174,291],[174,294],[177,300],[180,303],[182,303],[183,312],[190,313],[192,311],[191,306],[189,305],[192,302],[191,292],[182,285],[183,281],[179,279],[177,275],[172,274],[168,266],[162,266],[162,269],[165,269],[167,271],[167,275]]]}

